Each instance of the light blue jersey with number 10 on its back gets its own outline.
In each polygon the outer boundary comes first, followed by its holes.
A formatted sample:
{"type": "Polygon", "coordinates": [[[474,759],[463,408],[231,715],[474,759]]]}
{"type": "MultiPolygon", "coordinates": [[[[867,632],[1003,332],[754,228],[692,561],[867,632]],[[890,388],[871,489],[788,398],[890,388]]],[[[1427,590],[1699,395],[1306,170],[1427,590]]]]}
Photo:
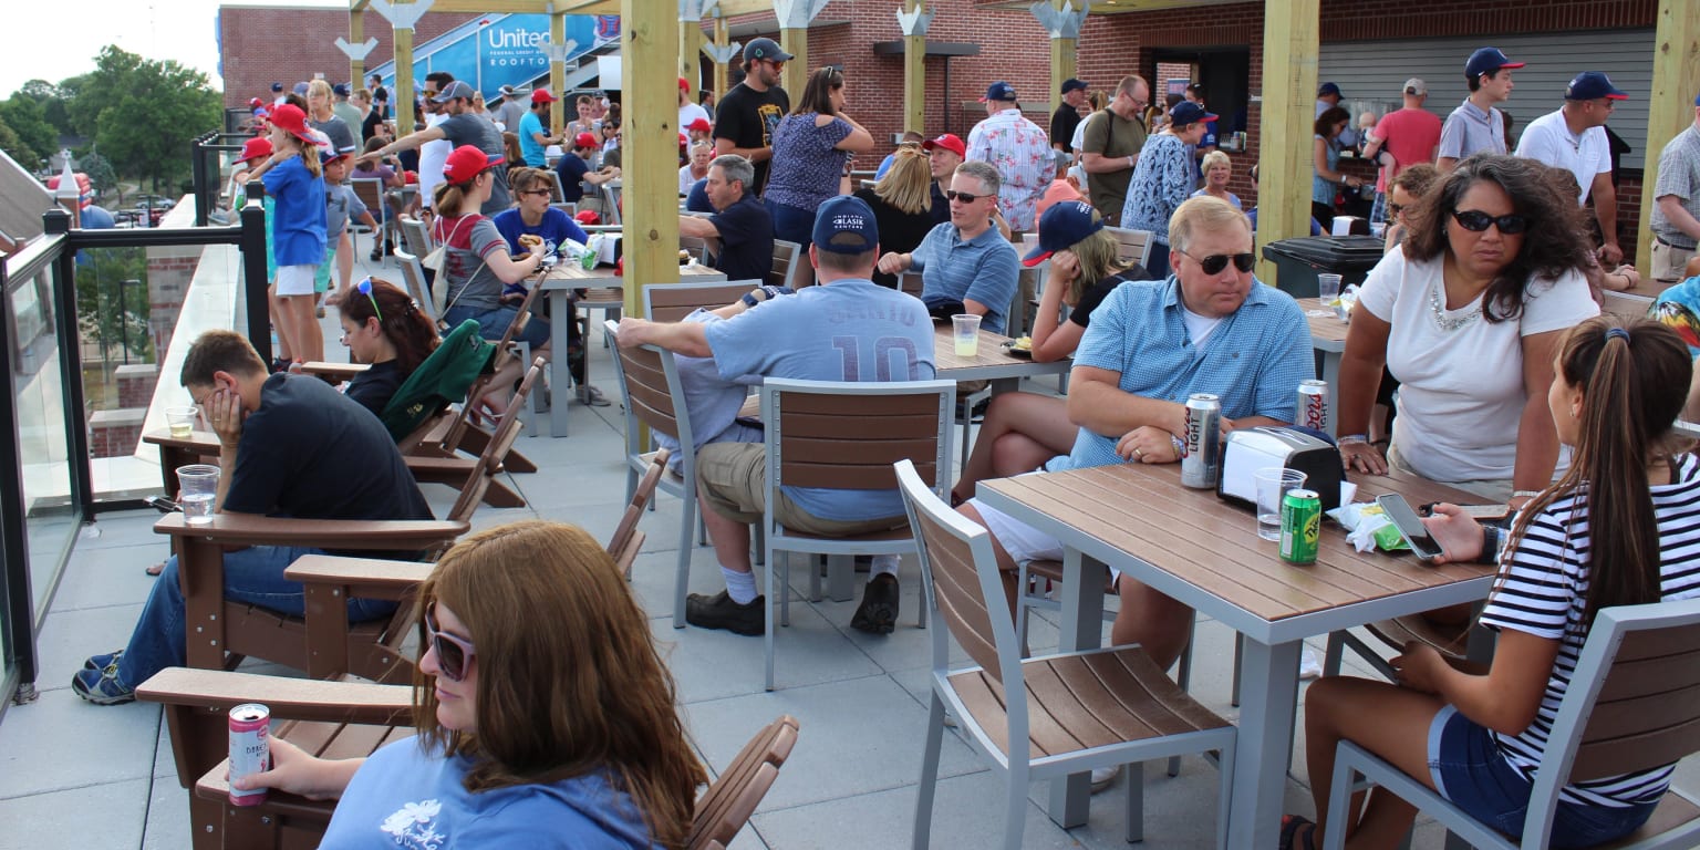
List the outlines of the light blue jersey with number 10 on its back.
{"type": "MultiPolygon", "coordinates": [[[[804,381],[928,381],[935,376],[933,321],[926,306],[872,280],[842,279],[804,287],[796,296],[763,301],[740,316],[711,323],[704,333],[724,381],[748,374],[804,381]]],[[[818,518],[903,515],[896,490],[789,484],[784,490],[818,518]]]]}

